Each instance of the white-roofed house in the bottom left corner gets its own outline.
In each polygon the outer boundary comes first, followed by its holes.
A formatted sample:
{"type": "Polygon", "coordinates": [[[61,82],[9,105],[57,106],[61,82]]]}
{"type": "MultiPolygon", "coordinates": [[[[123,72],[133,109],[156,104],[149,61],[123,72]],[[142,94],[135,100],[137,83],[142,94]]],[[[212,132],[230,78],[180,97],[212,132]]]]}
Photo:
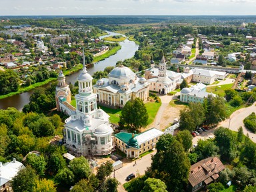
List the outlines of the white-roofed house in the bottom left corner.
{"type": "Polygon", "coordinates": [[[0,162],[0,191],[12,191],[10,186],[10,181],[17,175],[20,169],[25,168],[24,165],[16,161],[13,158],[13,161],[3,164],[0,162]]]}

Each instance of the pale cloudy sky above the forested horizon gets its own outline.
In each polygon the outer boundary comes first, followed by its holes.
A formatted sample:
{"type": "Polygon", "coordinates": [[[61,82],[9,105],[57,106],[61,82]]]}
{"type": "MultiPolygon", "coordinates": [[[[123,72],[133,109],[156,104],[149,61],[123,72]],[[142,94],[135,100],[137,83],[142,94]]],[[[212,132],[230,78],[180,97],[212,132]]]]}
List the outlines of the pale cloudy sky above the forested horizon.
{"type": "Polygon", "coordinates": [[[0,15],[255,15],[256,0],[0,0],[0,15]]]}

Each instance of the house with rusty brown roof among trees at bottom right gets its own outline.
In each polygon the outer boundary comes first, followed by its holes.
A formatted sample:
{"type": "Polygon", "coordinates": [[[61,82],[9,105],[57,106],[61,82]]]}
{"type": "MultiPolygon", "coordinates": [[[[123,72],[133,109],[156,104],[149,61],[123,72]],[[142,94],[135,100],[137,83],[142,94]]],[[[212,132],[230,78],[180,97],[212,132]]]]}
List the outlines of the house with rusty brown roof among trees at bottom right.
{"type": "Polygon", "coordinates": [[[218,157],[208,157],[193,165],[189,170],[188,191],[199,191],[219,178],[219,172],[223,171],[225,166],[218,157]]]}

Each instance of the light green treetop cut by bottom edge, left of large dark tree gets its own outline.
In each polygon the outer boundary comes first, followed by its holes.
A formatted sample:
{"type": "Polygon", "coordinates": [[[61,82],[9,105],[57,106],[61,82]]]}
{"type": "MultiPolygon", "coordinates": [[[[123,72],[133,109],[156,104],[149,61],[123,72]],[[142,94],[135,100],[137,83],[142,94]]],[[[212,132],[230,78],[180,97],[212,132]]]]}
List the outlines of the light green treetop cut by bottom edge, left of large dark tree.
{"type": "Polygon", "coordinates": [[[165,183],[160,179],[148,178],[144,184],[141,192],[167,192],[165,183]]]}

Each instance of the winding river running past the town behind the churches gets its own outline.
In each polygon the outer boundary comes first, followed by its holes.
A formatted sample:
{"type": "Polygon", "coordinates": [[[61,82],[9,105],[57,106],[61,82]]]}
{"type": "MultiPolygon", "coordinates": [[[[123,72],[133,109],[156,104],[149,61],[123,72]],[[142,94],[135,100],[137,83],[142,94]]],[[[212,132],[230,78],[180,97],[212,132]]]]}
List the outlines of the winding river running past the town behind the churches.
{"type": "MultiPolygon", "coordinates": [[[[107,31],[107,33],[109,34],[103,35],[99,37],[99,39],[103,39],[104,37],[109,37],[112,35],[122,35],[122,34],[113,33],[110,31],[107,31]]],[[[125,58],[133,57],[133,55],[135,54],[135,51],[138,50],[139,48],[139,45],[136,45],[133,41],[129,41],[127,39],[119,44],[121,45],[121,49],[118,50],[116,54],[113,54],[108,58],[105,58],[105,60],[101,60],[93,64],[93,66],[91,66],[90,68],[87,68],[87,71],[89,72],[89,74],[91,74],[91,76],[93,75],[94,72],[98,70],[104,70],[104,68],[107,66],[115,66],[115,64],[119,60],[124,60],[125,58]]],[[[68,83],[71,82],[72,84],[74,84],[80,73],[81,73],[81,70],[79,72],[75,72],[69,76],[66,76],[66,81],[68,83]]],[[[14,107],[14,108],[17,108],[17,110],[22,110],[23,106],[29,103],[29,97],[31,96],[32,93],[33,93],[33,90],[30,90],[29,92],[23,92],[22,94],[16,94],[14,96],[1,99],[0,109],[7,109],[9,107],[14,107]]]]}

